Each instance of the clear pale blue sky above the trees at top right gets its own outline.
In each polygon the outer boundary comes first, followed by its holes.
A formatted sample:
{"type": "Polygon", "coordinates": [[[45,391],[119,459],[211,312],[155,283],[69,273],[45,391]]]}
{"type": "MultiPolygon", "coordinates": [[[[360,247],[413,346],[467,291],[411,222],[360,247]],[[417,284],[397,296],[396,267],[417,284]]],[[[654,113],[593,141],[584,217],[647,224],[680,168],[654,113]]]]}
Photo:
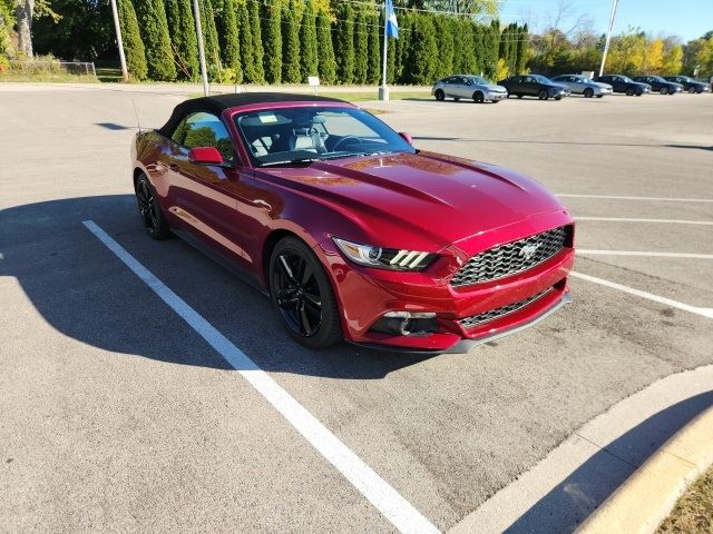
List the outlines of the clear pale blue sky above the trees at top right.
{"type": "MultiPolygon", "coordinates": [[[[609,23],[612,0],[564,0],[570,6],[572,26],[582,13],[592,21],[595,33],[604,33],[609,23]]],[[[560,0],[504,0],[500,20],[527,22],[530,31],[544,30],[557,12],[560,0]]],[[[566,26],[566,24],[563,24],[566,26]]],[[[697,39],[713,30],[713,0],[618,0],[614,33],[639,27],[657,37],[678,36],[684,41],[697,39]]]]}

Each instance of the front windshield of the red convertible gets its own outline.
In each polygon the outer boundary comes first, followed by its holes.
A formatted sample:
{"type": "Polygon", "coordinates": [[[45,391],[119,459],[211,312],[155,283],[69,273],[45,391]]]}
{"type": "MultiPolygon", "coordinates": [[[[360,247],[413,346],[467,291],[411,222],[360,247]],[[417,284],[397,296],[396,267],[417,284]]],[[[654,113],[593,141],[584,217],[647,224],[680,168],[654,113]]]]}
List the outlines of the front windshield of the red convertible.
{"type": "Polygon", "coordinates": [[[240,113],[235,123],[258,167],[416,149],[359,108],[295,106],[240,113]]]}

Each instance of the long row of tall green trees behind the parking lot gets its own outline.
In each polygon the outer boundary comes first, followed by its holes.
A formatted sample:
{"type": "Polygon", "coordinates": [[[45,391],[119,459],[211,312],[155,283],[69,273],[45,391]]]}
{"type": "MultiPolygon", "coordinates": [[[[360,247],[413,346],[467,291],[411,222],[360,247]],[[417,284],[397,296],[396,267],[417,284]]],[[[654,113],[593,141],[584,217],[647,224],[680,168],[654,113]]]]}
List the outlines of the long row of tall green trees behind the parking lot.
{"type": "MultiPolygon", "coordinates": [[[[526,68],[527,26],[419,11],[432,9],[428,0],[394,4],[417,9],[398,11],[399,39],[389,39],[388,47],[390,83],[428,85],[453,72],[495,79],[526,68]]],[[[51,6],[60,19],[36,20],[37,50],[82,60],[116,53],[107,0],[51,6]]],[[[470,0],[450,7],[475,13],[492,6],[470,0]]],[[[117,7],[133,80],[198,79],[193,0],[117,0],[117,7]]],[[[198,9],[212,81],[300,83],[315,75],[323,83],[381,81],[381,0],[198,0],[198,9]]]]}

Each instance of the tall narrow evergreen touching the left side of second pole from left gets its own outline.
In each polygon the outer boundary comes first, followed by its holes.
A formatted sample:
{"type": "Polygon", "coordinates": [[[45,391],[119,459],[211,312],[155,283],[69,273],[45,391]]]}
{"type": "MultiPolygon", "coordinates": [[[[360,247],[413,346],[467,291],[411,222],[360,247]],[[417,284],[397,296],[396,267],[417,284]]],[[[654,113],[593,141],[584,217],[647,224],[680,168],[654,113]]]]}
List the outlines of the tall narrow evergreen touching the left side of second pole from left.
{"type": "Polygon", "coordinates": [[[178,78],[198,78],[198,41],[191,0],[172,0],[166,6],[168,31],[173,36],[172,48],[178,78]]]}

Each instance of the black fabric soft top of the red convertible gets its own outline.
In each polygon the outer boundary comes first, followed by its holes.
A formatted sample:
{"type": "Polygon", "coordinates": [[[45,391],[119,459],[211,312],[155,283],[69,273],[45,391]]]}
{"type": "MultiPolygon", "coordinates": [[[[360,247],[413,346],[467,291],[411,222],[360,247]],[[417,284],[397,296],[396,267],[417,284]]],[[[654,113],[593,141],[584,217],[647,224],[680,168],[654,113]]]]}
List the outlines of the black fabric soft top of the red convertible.
{"type": "Polygon", "coordinates": [[[205,111],[221,116],[223,111],[229,108],[237,108],[250,103],[266,102],[342,102],[338,98],[318,97],[315,95],[290,95],[286,92],[237,92],[231,95],[216,95],[214,97],[201,97],[184,100],[174,108],[168,122],[166,122],[158,132],[164,137],[170,135],[178,127],[178,123],[191,113],[205,111]]]}

